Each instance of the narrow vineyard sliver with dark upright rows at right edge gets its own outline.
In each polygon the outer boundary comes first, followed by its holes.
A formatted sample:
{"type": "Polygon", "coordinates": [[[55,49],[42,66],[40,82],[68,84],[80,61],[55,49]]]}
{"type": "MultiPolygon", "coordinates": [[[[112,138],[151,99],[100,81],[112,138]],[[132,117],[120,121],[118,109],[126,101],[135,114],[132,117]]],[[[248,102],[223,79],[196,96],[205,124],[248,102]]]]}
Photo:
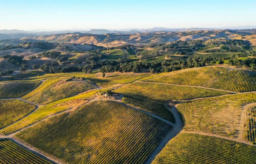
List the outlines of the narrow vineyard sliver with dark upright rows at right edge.
{"type": "Polygon", "coordinates": [[[244,139],[256,144],[256,107],[254,106],[247,108],[246,111],[244,139]]]}

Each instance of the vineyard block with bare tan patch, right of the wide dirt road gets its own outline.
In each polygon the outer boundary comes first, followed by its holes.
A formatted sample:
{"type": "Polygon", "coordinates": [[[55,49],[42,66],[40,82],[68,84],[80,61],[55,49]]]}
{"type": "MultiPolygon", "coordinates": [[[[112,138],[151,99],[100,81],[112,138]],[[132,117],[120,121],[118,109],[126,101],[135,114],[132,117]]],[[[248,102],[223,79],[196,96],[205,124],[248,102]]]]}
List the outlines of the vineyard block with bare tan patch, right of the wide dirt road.
{"type": "Polygon", "coordinates": [[[255,93],[235,94],[181,103],[184,130],[202,131],[237,138],[241,133],[242,107],[256,102],[255,93]]]}

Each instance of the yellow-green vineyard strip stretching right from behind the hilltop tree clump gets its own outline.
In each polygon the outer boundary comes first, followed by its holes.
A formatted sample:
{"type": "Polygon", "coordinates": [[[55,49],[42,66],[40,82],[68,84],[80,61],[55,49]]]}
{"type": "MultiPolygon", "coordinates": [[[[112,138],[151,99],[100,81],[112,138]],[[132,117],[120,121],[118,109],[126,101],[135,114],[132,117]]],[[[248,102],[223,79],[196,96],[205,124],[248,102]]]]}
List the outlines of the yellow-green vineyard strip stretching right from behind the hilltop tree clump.
{"type": "Polygon", "coordinates": [[[209,90],[204,88],[193,88],[143,82],[135,82],[125,85],[117,90],[114,90],[114,92],[136,97],[146,97],[150,100],[157,100],[158,102],[166,102],[169,100],[187,100],[192,98],[219,96],[227,94],[227,92],[209,90]]]}

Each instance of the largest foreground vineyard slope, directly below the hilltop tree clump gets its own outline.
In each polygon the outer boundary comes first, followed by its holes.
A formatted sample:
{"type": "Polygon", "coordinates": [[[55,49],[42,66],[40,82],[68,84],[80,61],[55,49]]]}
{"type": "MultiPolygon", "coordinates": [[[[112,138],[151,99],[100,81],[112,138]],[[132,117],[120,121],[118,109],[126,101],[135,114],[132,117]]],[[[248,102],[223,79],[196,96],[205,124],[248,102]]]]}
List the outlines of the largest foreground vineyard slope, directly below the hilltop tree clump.
{"type": "Polygon", "coordinates": [[[98,101],[16,137],[66,163],[143,163],[171,128],[119,103],[98,101]]]}

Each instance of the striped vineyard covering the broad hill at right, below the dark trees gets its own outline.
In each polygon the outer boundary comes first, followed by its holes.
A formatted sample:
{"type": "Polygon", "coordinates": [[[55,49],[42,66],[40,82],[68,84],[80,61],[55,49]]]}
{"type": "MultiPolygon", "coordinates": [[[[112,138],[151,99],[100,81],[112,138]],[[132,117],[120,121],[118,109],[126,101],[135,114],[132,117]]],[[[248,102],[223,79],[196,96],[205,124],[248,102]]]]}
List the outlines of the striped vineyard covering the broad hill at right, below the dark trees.
{"type": "Polygon", "coordinates": [[[256,74],[243,69],[203,67],[171,76],[162,76],[145,82],[201,86],[230,92],[256,90],[256,74]]]}

